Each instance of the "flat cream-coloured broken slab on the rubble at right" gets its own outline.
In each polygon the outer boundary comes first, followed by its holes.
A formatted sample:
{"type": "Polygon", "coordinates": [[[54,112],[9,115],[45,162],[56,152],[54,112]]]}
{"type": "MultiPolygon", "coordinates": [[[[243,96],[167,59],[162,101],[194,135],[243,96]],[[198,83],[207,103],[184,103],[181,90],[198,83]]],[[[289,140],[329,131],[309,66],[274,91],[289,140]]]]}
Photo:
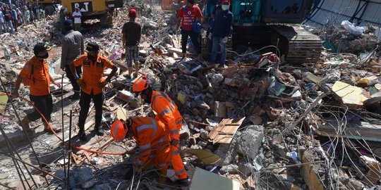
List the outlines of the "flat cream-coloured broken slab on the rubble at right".
{"type": "Polygon", "coordinates": [[[347,106],[350,109],[362,108],[364,101],[370,97],[368,91],[340,81],[334,83],[332,92],[334,98],[340,101],[342,106],[347,106]]]}

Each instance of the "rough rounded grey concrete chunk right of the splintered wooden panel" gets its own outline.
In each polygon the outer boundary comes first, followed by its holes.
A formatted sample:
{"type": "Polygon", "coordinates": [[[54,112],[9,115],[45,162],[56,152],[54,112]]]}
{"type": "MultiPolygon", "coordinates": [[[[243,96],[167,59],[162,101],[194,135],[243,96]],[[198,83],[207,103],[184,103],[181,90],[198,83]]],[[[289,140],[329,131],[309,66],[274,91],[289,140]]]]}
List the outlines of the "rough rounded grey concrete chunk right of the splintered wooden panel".
{"type": "Polygon", "coordinates": [[[263,140],[262,125],[249,125],[245,131],[237,137],[236,148],[243,156],[255,159],[263,140]]]}

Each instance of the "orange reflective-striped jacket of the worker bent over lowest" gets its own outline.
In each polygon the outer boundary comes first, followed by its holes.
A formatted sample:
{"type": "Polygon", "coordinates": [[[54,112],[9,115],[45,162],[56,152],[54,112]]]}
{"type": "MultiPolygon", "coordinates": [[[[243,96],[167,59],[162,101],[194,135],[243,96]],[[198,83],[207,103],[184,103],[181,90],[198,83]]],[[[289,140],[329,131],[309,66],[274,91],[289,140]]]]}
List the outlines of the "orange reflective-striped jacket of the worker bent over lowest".
{"type": "MultiPolygon", "coordinates": [[[[169,137],[164,123],[154,118],[149,117],[135,117],[133,119],[133,137],[138,142],[140,148],[140,156],[136,160],[139,166],[146,163],[152,163],[156,157],[160,157],[162,163],[156,163],[159,167],[164,167],[168,160],[169,155],[161,155],[167,153],[165,151],[169,148],[169,137]],[[168,157],[165,159],[164,157],[168,157]]],[[[158,161],[156,161],[158,162],[158,161]]]]}

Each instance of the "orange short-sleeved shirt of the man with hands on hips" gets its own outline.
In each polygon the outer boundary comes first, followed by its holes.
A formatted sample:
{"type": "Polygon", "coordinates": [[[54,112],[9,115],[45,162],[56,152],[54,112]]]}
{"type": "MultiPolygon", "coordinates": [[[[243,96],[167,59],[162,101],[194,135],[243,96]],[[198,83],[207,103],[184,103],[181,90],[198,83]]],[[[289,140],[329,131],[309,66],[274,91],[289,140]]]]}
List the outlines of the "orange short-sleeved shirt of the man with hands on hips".
{"type": "Polygon", "coordinates": [[[86,87],[81,88],[86,94],[94,93],[94,95],[100,94],[103,89],[98,87],[99,82],[103,82],[104,68],[112,68],[114,65],[104,56],[98,54],[97,61],[93,63],[87,54],[83,54],[73,62],[75,67],[83,65],[83,80],[85,80],[86,87]]]}

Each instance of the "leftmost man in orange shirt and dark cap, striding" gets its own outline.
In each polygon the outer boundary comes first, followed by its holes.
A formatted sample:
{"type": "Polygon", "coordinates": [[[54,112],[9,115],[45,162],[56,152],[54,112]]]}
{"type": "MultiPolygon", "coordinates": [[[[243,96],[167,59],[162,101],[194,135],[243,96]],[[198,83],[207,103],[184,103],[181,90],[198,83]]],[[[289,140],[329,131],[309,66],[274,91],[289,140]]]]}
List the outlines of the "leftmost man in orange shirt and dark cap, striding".
{"type": "MultiPolygon", "coordinates": [[[[60,87],[58,83],[56,83],[52,76],[49,74],[49,65],[46,61],[46,58],[49,57],[49,53],[47,51],[50,50],[50,47],[44,43],[37,43],[33,49],[35,56],[33,56],[30,61],[25,63],[23,70],[21,70],[20,75],[18,75],[16,80],[16,86],[13,90],[13,97],[18,97],[18,89],[20,88],[21,81],[26,82],[30,85],[30,101],[35,103],[35,106],[47,122],[50,122],[52,109],[53,109],[53,101],[52,95],[50,94],[49,85],[52,82],[57,87],[60,87]]],[[[23,118],[21,121],[21,126],[23,129],[31,132],[29,123],[31,121],[35,121],[41,118],[40,113],[35,109],[32,113],[23,118]]],[[[42,123],[44,124],[44,131],[52,132],[47,123],[42,119],[42,123]]],[[[60,132],[61,129],[56,129],[52,127],[55,132],[60,132]]]]}

